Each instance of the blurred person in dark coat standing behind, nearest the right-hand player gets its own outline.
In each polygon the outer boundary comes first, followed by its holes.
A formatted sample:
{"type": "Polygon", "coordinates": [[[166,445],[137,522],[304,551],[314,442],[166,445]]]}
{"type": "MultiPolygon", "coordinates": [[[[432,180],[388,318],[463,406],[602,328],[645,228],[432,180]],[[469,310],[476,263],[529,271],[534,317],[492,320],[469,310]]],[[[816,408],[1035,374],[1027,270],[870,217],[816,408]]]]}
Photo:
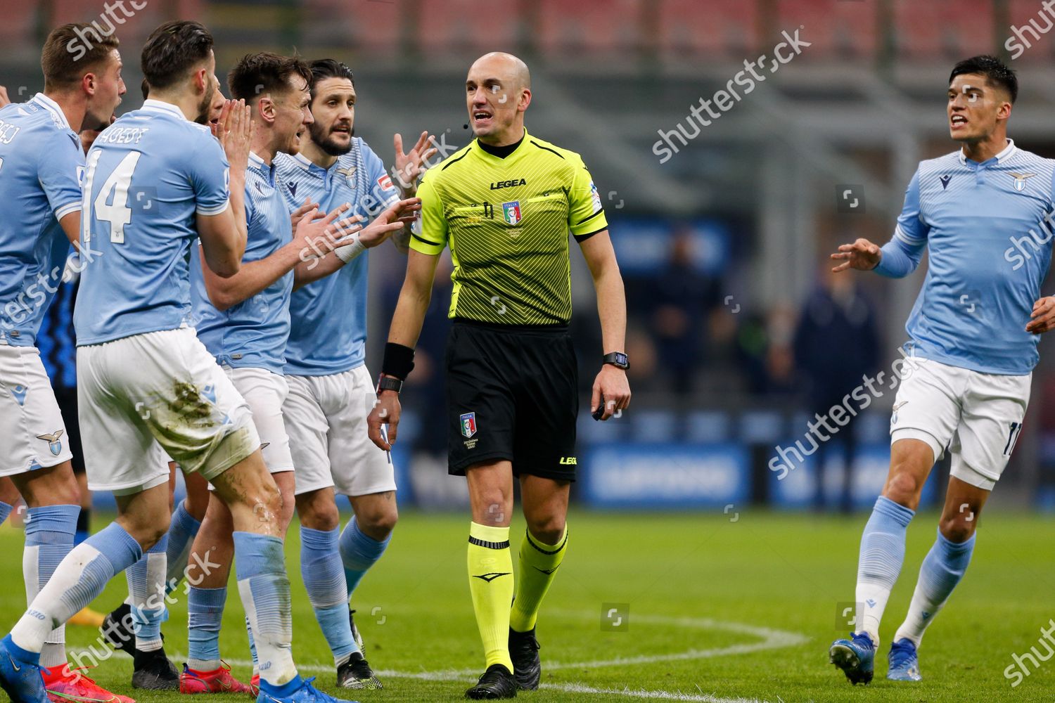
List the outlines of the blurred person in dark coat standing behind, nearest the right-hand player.
{"type": "MultiPolygon", "coordinates": [[[[832,406],[875,374],[879,364],[879,329],[876,314],[861,293],[852,273],[832,273],[827,260],[821,266],[818,287],[806,298],[794,332],[794,366],[805,382],[807,409],[811,415],[827,415],[832,406]]],[[[851,509],[850,481],[857,450],[857,422],[850,418],[830,442],[822,443],[813,463],[817,467],[814,507],[823,510],[825,463],[830,446],[843,450],[843,475],[839,508],[851,509]]]]}

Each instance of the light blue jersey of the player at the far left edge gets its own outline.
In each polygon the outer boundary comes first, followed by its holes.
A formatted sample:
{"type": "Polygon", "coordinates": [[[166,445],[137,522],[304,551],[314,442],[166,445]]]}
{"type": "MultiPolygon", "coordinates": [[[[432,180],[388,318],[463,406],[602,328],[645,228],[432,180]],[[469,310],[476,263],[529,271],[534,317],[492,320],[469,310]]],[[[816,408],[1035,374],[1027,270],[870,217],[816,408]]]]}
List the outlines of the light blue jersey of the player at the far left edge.
{"type": "Polygon", "coordinates": [[[80,210],[84,152],[42,93],[0,110],[0,339],[32,347],[70,254],[59,220],[80,210]]]}

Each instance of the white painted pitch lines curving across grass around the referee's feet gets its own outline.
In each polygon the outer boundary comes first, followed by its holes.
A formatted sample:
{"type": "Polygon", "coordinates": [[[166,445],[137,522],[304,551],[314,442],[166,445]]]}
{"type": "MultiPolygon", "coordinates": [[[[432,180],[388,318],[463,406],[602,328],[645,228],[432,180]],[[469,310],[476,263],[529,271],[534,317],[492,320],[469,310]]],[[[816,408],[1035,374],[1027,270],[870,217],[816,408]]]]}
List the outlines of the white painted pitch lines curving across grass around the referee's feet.
{"type": "MultiPolygon", "coordinates": [[[[551,616],[586,619],[593,616],[586,616],[581,611],[556,610],[549,611],[551,616]]],[[[619,666],[625,664],[651,664],[656,662],[685,661],[693,659],[710,659],[713,657],[728,657],[731,655],[743,655],[765,649],[780,649],[783,647],[793,647],[809,641],[808,637],[797,632],[776,630],[769,627],[756,627],[745,623],[723,622],[710,618],[671,618],[668,616],[634,616],[633,622],[655,625],[672,625],[675,627],[686,627],[691,629],[712,629],[749,634],[763,638],[762,642],[751,644],[736,644],[727,647],[715,647],[712,649],[689,649],[672,655],[654,655],[640,657],[619,657],[616,659],[597,660],[592,662],[546,662],[545,669],[562,669],[576,667],[601,667],[619,666]]],[[[186,659],[183,655],[174,655],[174,659],[186,659]]],[[[249,660],[225,660],[234,666],[252,666],[249,660]]],[[[302,671],[311,673],[326,673],[333,670],[331,664],[298,664],[302,671]]],[[[390,677],[394,679],[417,679],[419,681],[465,681],[473,682],[479,676],[477,669],[443,669],[438,671],[396,671],[391,669],[380,669],[379,677],[390,677]]],[[[607,696],[627,696],[630,698],[659,699],[668,701],[698,701],[701,703],[760,703],[759,699],[747,698],[718,698],[708,694],[683,694],[680,691],[648,690],[644,688],[596,688],[579,683],[543,683],[539,686],[546,690],[559,690],[569,694],[593,694],[607,696]]]]}

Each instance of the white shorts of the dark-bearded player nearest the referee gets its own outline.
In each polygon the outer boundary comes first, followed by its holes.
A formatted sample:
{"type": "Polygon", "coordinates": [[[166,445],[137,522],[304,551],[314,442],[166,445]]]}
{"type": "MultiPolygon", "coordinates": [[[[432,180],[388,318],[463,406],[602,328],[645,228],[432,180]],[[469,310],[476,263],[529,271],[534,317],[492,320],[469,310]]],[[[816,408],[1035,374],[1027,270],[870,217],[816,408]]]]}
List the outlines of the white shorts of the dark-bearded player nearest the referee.
{"type": "Polygon", "coordinates": [[[344,495],[396,490],[391,456],[367,436],[366,416],[377,393],[366,366],[286,380],[289,395],[282,412],[296,467],[296,494],[330,486],[344,495]]]}

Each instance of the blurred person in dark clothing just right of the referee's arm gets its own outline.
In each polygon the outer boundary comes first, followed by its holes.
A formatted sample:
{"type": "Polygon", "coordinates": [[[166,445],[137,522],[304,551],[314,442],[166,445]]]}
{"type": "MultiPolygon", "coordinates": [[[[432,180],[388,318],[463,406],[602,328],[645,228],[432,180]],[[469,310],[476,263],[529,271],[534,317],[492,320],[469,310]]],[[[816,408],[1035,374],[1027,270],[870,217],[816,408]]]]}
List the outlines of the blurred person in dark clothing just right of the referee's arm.
{"type": "Polygon", "coordinates": [[[701,368],[704,331],[721,304],[718,281],[703,274],[692,257],[692,231],[673,237],[670,260],[650,287],[648,304],[658,368],[670,390],[688,395],[701,368]]]}

